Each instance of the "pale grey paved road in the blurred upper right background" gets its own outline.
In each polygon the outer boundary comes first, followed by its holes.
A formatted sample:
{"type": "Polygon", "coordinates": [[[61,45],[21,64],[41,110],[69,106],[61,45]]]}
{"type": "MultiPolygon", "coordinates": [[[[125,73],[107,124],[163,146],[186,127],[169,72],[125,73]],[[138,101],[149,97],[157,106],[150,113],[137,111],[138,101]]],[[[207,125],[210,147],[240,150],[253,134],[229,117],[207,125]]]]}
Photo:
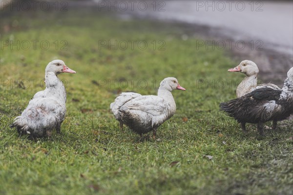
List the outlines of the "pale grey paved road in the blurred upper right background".
{"type": "Polygon", "coordinates": [[[293,55],[293,1],[163,2],[157,1],[156,11],[153,11],[153,4],[148,4],[146,11],[134,9],[134,12],[141,17],[157,20],[176,20],[217,27],[220,33],[235,40],[260,39],[264,47],[293,55]],[[158,11],[159,8],[165,11],[158,11]]]}

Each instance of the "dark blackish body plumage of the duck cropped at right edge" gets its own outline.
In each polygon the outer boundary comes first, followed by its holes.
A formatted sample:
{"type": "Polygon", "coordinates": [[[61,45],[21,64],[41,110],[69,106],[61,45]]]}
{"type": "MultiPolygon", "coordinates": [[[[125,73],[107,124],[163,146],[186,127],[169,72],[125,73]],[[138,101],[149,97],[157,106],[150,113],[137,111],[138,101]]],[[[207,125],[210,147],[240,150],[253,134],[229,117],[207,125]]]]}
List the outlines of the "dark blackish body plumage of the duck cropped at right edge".
{"type": "Polygon", "coordinates": [[[279,100],[281,93],[281,90],[271,88],[256,89],[241,98],[220,103],[220,111],[224,111],[228,116],[241,123],[282,120],[290,116],[293,106],[290,101],[279,100]],[[272,103],[276,109],[268,109],[269,103],[272,103]]]}

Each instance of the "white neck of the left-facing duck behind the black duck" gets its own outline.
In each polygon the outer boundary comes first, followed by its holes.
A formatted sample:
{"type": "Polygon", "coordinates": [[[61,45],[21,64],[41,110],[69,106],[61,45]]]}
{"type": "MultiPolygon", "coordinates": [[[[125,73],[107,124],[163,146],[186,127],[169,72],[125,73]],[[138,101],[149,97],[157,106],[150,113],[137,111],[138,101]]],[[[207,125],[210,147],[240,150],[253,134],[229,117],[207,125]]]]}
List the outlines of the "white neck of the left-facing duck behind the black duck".
{"type": "Polygon", "coordinates": [[[236,94],[237,98],[251,92],[251,89],[257,85],[257,75],[246,76],[238,85],[236,94]]]}

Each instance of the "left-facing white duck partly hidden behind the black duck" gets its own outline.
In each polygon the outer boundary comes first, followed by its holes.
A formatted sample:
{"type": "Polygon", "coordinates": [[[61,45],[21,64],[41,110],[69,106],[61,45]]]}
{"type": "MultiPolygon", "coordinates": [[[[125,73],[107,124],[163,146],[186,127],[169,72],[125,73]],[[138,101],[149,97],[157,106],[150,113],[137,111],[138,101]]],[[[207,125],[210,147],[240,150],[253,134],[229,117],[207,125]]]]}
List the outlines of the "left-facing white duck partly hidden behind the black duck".
{"type": "Polygon", "coordinates": [[[257,65],[251,60],[243,60],[235,68],[228,70],[229,72],[241,72],[246,75],[242,82],[236,89],[236,96],[240,98],[248,93],[251,93],[255,89],[269,87],[275,90],[280,90],[278,86],[272,83],[257,85],[257,74],[259,72],[257,65]]]}

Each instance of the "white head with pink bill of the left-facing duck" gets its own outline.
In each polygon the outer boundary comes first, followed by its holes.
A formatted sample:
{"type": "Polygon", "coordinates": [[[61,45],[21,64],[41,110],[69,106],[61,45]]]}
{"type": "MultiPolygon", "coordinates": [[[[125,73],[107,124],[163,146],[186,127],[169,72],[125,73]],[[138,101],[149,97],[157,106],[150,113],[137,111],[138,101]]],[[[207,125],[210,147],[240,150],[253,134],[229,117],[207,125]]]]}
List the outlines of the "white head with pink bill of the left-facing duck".
{"type": "Polygon", "coordinates": [[[231,68],[228,71],[241,72],[241,73],[244,73],[248,77],[257,75],[259,72],[257,65],[251,60],[243,60],[240,62],[238,66],[236,66],[235,68],[231,68]]]}

